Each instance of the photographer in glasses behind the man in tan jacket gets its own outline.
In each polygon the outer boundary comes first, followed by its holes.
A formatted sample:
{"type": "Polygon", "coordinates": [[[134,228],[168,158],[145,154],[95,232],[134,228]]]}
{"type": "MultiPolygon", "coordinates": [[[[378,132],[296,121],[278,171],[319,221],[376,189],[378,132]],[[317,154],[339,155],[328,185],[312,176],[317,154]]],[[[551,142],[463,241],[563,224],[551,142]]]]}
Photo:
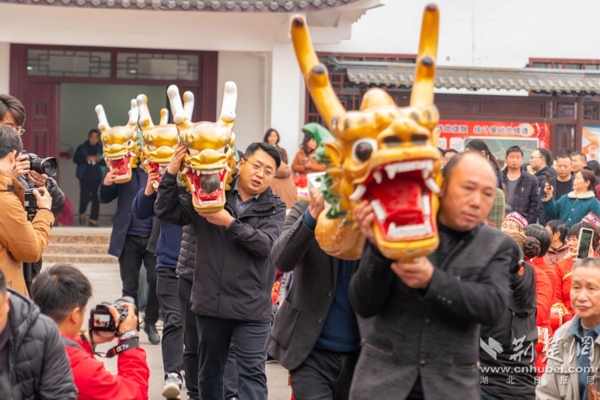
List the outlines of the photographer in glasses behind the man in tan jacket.
{"type": "MultiPolygon", "coordinates": [[[[17,133],[23,136],[25,130],[25,107],[16,98],[8,94],[0,94],[0,125],[13,128],[17,133]]],[[[45,187],[52,197],[52,213],[58,216],[65,207],[65,195],[56,184],[53,178],[46,174],[38,174],[29,169],[28,155],[19,155],[17,157],[17,165],[14,167],[11,176],[19,179],[19,182],[25,188],[42,188],[45,187]]]]}

